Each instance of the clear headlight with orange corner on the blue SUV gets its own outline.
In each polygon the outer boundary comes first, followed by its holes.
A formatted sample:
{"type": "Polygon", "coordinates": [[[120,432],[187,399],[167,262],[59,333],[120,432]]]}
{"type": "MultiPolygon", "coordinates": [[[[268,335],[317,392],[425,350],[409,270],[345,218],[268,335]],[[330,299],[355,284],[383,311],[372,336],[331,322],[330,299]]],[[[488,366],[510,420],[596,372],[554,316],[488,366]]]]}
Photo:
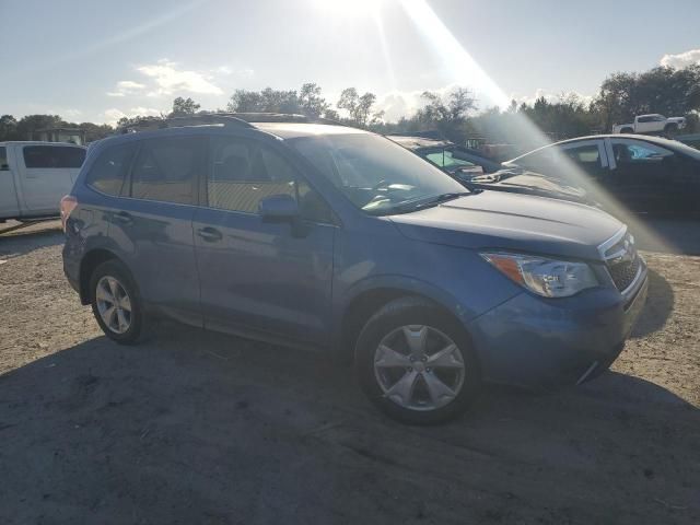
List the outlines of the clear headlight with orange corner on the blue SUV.
{"type": "Polygon", "coordinates": [[[585,262],[502,253],[481,254],[481,257],[513,281],[544,298],[569,298],[598,285],[595,273],[585,262]]]}

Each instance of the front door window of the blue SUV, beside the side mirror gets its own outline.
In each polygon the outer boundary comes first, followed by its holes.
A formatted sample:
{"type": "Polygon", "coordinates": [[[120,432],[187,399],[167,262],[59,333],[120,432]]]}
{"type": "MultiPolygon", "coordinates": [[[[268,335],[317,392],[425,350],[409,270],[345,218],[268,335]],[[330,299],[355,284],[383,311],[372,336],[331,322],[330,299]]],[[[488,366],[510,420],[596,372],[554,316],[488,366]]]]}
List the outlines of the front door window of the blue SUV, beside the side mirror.
{"type": "Polygon", "coordinates": [[[289,195],[298,200],[305,219],[332,222],[326,202],[272,149],[245,139],[217,137],[211,141],[211,151],[207,180],[211,208],[257,213],[261,199],[289,195]]]}

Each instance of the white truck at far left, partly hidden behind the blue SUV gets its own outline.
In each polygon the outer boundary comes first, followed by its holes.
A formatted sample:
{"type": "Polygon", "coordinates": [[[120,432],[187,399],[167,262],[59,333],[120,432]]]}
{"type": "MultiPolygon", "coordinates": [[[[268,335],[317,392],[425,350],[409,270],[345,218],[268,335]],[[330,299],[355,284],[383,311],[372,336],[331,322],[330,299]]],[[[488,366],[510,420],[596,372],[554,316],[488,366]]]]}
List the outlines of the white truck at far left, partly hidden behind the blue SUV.
{"type": "Polygon", "coordinates": [[[0,222],[59,217],[85,151],[58,142],[0,142],[0,222]]]}

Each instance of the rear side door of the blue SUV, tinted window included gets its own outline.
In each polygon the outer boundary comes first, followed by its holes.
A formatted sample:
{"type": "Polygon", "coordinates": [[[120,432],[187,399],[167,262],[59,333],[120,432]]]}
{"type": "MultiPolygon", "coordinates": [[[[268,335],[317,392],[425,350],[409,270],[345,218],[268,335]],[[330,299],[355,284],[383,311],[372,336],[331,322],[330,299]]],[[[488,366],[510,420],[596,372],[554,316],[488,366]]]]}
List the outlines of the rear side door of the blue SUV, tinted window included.
{"type": "Polygon", "coordinates": [[[109,236],[143,299],[194,325],[201,324],[201,316],[192,217],[206,154],[202,136],[139,141],[122,197],[107,214],[109,236]]]}

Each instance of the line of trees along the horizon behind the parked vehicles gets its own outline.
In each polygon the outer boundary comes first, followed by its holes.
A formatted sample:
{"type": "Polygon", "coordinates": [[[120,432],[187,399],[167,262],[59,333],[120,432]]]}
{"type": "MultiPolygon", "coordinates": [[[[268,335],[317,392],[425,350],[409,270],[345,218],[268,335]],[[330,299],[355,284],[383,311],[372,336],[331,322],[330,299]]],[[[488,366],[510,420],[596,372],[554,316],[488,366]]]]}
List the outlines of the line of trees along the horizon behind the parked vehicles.
{"type": "MultiPolygon", "coordinates": [[[[225,108],[202,110],[191,97],[178,96],[170,113],[159,116],[124,117],[117,128],[143,119],[163,119],[201,113],[287,113],[311,118],[327,118],[382,133],[434,135],[464,143],[468,137],[483,137],[489,142],[523,143],[514,119],[526,116],[552,140],[582,135],[609,132],[614,124],[631,121],[635,115],[661,113],[666,116],[686,116],[688,132],[700,131],[700,65],[684,69],[657,67],[641,73],[619,72],[605,79],[592,101],[576,95],[562,94],[551,101],[539,97],[532,104],[517,104],[508,108],[479,108],[478,101],[468,88],[456,88],[446,94],[425,91],[422,106],[411,116],[387,122],[384,113],[376,107],[374,93],[361,93],[355,88],[345,89],[331,104],[322,88],[313,82],[300,90],[260,91],[236,90],[225,108]],[[481,109],[479,112],[479,109],[481,109]]],[[[83,129],[88,142],[104,138],[115,131],[109,125],[69,122],[59,115],[27,115],[15,119],[12,115],[0,117],[0,141],[26,140],[38,129],[71,127],[83,129]]]]}

